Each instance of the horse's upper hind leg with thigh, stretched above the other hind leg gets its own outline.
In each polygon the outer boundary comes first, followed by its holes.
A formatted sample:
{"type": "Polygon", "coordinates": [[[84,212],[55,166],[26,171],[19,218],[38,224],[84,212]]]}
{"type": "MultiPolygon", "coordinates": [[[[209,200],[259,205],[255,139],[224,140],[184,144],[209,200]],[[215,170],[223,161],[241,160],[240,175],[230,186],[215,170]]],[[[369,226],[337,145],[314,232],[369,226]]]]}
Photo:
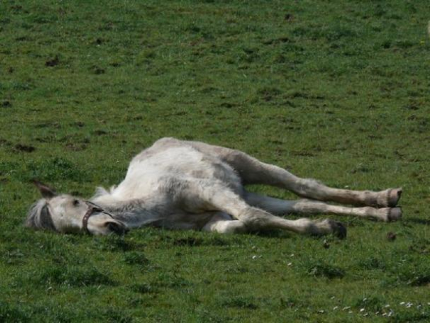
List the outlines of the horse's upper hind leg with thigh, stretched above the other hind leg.
{"type": "Polygon", "coordinates": [[[245,185],[267,184],[314,200],[376,207],[394,207],[402,194],[402,189],[372,192],[329,188],[315,179],[297,177],[285,169],[263,163],[238,150],[199,142],[189,142],[189,144],[201,152],[217,156],[230,164],[239,173],[245,185]]]}

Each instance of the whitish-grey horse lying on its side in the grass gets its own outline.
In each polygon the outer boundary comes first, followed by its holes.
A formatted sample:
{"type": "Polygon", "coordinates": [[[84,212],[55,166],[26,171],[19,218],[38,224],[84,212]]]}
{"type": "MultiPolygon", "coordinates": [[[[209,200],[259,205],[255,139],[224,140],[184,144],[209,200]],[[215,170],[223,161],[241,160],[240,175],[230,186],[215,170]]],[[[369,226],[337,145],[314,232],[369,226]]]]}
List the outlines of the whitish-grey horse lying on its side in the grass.
{"type": "Polygon", "coordinates": [[[243,233],[286,229],[299,234],[346,237],[340,222],[273,214],[332,213],[397,220],[402,190],[380,192],[333,189],[228,148],[173,138],[160,139],[130,163],[125,179],[110,192],[98,188],[90,200],[35,181],[43,199],[30,208],[26,225],[60,233],[124,234],[145,225],[243,233]],[[247,192],[246,184],[267,184],[301,197],[285,201],[247,192]],[[332,201],[362,207],[338,206],[332,201]]]}

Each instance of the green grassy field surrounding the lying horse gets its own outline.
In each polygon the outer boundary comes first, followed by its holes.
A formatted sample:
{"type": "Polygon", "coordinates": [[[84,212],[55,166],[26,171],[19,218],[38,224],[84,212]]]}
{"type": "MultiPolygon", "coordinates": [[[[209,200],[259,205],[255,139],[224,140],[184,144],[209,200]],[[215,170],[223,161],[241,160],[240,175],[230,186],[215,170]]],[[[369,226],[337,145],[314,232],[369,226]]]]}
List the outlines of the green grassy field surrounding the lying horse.
{"type": "Polygon", "coordinates": [[[429,321],[428,19],[401,0],[2,1],[0,321],[429,321]],[[343,241],[23,227],[32,178],[90,197],[162,136],[403,187],[404,218],[333,216],[343,241]]]}

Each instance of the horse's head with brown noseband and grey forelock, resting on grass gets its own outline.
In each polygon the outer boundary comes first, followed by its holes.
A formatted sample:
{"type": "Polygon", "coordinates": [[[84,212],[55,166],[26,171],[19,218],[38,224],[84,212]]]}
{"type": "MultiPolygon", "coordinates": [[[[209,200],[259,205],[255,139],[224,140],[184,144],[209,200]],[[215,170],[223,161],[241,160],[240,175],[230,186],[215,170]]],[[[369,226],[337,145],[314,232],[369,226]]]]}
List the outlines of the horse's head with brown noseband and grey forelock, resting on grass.
{"type": "Polygon", "coordinates": [[[126,226],[91,202],[68,194],[57,194],[45,184],[34,181],[42,199],[34,203],[26,226],[59,233],[124,234],[126,226]]]}

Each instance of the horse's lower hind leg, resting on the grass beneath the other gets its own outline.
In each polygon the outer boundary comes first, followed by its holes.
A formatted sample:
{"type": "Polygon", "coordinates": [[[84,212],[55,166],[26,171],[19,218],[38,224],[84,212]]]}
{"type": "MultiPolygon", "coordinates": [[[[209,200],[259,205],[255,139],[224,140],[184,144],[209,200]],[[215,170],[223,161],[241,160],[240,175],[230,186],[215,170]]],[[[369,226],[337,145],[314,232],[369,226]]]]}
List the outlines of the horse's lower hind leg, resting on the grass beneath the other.
{"type": "Polygon", "coordinates": [[[267,196],[262,196],[254,193],[246,193],[245,201],[251,205],[262,208],[274,214],[286,213],[306,213],[306,214],[338,214],[338,215],[353,215],[363,218],[372,218],[385,222],[396,221],[402,217],[402,210],[395,208],[374,208],[365,207],[348,207],[331,205],[314,200],[296,200],[286,201],[275,199],[267,196]]]}

